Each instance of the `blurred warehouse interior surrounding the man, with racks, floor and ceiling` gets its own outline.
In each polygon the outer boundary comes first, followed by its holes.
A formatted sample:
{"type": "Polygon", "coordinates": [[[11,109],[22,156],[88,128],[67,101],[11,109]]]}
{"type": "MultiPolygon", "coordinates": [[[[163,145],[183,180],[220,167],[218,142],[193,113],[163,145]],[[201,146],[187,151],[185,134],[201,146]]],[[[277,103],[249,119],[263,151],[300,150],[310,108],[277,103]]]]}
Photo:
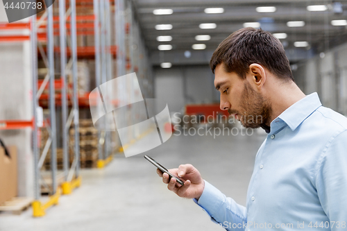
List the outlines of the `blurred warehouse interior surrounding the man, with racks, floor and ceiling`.
{"type": "Polygon", "coordinates": [[[346,0],[57,0],[13,22],[9,7],[0,3],[0,230],[223,230],[144,155],[193,164],[246,205],[266,133],[218,119],[229,114],[209,66],[240,28],[277,37],[298,87],[347,116],[346,0]],[[150,117],[154,127],[141,123],[150,117]],[[237,132],[189,130],[225,127],[237,132]]]}

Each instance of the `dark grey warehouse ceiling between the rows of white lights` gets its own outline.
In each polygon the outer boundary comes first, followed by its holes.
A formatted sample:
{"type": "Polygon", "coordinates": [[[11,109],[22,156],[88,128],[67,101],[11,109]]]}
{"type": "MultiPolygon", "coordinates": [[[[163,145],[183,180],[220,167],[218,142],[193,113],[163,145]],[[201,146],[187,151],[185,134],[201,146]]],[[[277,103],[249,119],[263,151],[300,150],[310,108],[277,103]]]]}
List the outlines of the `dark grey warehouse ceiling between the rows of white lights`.
{"type": "Polygon", "coordinates": [[[313,54],[347,42],[346,26],[331,24],[332,20],[347,19],[347,0],[338,3],[316,0],[134,0],[133,3],[151,53],[159,52],[160,44],[172,45],[171,51],[165,53],[195,52],[192,45],[201,43],[206,45],[205,51],[213,51],[230,33],[243,28],[245,22],[260,22],[260,27],[271,33],[287,33],[287,38],[281,42],[288,51],[303,50],[313,54]],[[307,6],[311,5],[325,5],[328,10],[310,12],[307,6]],[[257,12],[258,6],[275,6],[276,11],[257,12]],[[224,12],[204,12],[205,8],[217,7],[223,8],[224,12]],[[173,10],[171,15],[153,15],[153,10],[167,8],[173,10]],[[289,27],[287,22],[290,21],[304,21],[305,26],[289,27]],[[199,24],[202,23],[214,23],[217,28],[201,29],[199,24]],[[157,24],[171,24],[172,29],[158,31],[155,29],[157,24]],[[158,42],[157,37],[162,35],[170,35],[171,42],[158,42]],[[210,35],[210,40],[196,41],[196,35],[210,35]],[[297,48],[294,42],[298,41],[306,41],[309,46],[297,48]]]}

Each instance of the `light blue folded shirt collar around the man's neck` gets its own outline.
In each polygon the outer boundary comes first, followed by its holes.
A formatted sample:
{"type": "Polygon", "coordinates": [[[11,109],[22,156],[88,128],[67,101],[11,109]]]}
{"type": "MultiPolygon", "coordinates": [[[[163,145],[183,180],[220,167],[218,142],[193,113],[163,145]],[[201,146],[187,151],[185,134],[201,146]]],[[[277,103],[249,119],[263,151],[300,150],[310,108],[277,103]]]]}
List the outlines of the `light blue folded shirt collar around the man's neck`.
{"type": "MultiPolygon", "coordinates": [[[[317,108],[321,106],[321,101],[316,92],[306,96],[304,99],[294,103],[287,110],[282,112],[278,118],[271,122],[271,133],[274,132],[273,128],[277,127],[275,123],[280,120],[287,123],[291,130],[295,130],[303,121],[312,114],[317,108]]],[[[275,129],[276,130],[276,129],[275,129]]]]}

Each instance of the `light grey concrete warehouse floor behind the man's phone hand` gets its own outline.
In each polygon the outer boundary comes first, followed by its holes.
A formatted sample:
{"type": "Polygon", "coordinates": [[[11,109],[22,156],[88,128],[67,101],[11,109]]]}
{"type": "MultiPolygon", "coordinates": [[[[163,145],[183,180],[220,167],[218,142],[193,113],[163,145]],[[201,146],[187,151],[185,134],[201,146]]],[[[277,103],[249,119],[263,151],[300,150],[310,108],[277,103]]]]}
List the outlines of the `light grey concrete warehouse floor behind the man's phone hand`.
{"type": "Polygon", "coordinates": [[[20,216],[0,214],[0,230],[223,230],[192,200],[168,191],[143,155],[168,169],[193,164],[205,180],[245,205],[255,154],[264,138],[257,132],[215,139],[173,135],[146,153],[116,155],[105,169],[83,169],[81,188],[62,196],[60,204],[42,218],[33,218],[31,209],[20,216]]]}

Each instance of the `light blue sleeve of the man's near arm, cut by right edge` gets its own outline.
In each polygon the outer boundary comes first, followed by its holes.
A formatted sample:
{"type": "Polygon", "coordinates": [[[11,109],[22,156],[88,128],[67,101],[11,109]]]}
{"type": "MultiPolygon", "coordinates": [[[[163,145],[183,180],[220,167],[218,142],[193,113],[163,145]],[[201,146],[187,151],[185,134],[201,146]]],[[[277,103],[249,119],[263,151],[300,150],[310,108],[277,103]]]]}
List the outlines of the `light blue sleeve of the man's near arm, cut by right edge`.
{"type": "Polygon", "coordinates": [[[316,189],[330,220],[332,231],[346,230],[347,222],[347,130],[325,146],[319,160],[316,189]]]}

